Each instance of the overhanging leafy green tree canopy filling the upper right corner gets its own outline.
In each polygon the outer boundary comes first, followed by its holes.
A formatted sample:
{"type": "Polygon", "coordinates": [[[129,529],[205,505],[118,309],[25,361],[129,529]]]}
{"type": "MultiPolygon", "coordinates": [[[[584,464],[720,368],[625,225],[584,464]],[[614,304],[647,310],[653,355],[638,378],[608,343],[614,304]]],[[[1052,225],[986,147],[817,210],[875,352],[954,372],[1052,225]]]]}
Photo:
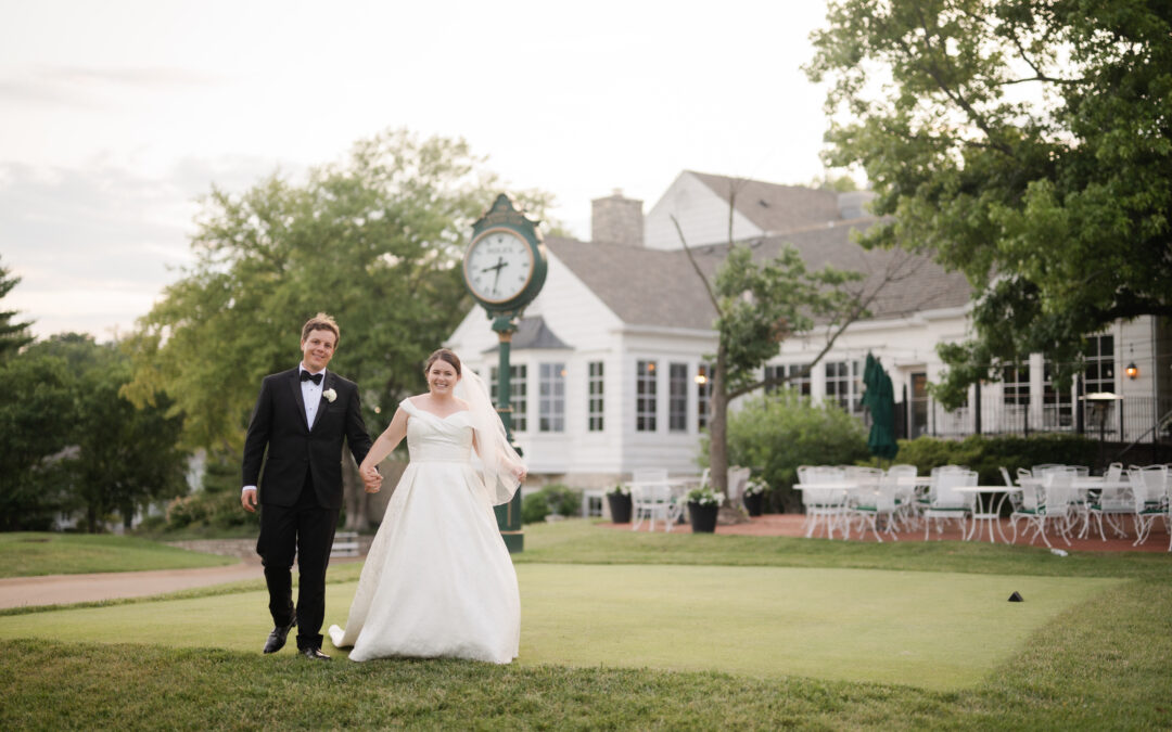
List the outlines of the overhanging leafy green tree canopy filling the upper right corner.
{"type": "Polygon", "coordinates": [[[1086,334],[1172,315],[1172,5],[839,0],[813,42],[826,162],[891,217],[863,244],[977,290],[941,403],[1030,353],[1069,382],[1086,334]]]}

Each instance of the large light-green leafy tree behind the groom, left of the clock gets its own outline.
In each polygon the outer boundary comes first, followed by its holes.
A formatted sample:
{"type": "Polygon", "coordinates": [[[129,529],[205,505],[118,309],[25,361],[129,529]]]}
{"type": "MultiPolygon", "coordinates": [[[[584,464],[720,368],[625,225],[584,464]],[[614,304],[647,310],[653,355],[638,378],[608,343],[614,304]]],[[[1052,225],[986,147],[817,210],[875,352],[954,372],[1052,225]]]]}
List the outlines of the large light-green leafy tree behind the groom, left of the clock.
{"type": "MultiPolygon", "coordinates": [[[[498,185],[462,141],[389,131],[356,143],[305,183],[278,175],[241,194],[212,189],[192,240],[196,262],[132,338],[137,403],[162,390],[185,440],[239,456],[260,379],[297,363],[319,310],[341,328],[331,368],[362,388],[373,432],[424,385],[423,362],[466,312],[457,266],[498,185]]],[[[538,216],[548,198],[518,194],[538,216]]],[[[366,493],[346,472],[347,528],[367,526],[366,493]]]]}

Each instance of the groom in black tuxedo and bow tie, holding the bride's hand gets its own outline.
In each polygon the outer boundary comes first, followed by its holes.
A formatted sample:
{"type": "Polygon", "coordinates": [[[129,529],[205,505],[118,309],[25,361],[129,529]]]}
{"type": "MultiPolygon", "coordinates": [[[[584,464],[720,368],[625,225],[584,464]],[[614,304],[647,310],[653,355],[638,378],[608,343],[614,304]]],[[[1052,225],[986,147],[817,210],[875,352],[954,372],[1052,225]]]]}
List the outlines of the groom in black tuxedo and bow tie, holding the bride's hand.
{"type": "Polygon", "coordinates": [[[259,491],[260,539],[268,611],[275,628],[265,652],[285,645],[294,625],[298,651],[329,661],[321,652],[326,613],[326,566],[342,507],[342,438],[359,463],[370,450],[359,405],[357,384],[326,364],[338,349],[338,323],[319,313],[301,328],[301,364],[266,376],[244,442],[244,490],[240,502],[255,511],[259,491]],[[260,467],[265,450],[268,459],[260,467]],[[293,554],[300,587],[293,607],[293,554]]]}

